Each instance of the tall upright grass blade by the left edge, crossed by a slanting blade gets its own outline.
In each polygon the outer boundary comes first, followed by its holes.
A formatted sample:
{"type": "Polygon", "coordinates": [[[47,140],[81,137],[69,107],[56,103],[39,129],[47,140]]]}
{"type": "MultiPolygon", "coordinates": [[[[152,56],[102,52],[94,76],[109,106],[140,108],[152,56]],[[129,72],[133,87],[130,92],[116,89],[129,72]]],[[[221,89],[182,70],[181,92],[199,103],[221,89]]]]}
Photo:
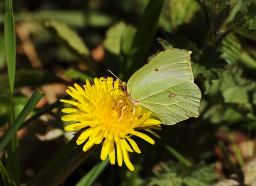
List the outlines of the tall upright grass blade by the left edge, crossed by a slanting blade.
{"type": "MultiPolygon", "coordinates": [[[[5,38],[5,53],[7,61],[7,69],[9,76],[9,89],[10,89],[10,123],[12,126],[15,119],[14,104],[13,104],[13,87],[14,87],[14,77],[15,77],[15,55],[16,55],[16,45],[15,45],[15,26],[14,26],[14,16],[12,11],[12,1],[5,1],[5,20],[4,20],[4,38],[5,38]]],[[[19,142],[17,133],[11,135],[10,139],[6,141],[6,151],[5,151],[5,166],[9,173],[12,175],[15,183],[20,185],[20,158],[19,158],[19,142]],[[7,143],[8,142],[8,143],[7,143]]]]}

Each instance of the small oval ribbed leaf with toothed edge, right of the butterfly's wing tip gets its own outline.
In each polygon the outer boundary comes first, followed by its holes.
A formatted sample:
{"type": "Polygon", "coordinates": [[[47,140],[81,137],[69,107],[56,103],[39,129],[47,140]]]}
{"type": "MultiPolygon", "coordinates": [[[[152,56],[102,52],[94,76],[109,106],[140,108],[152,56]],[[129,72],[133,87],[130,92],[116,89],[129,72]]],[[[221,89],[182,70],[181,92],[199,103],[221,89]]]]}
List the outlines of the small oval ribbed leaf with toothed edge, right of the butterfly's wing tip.
{"type": "Polygon", "coordinates": [[[234,64],[240,58],[242,47],[238,39],[230,33],[225,39],[222,40],[218,51],[222,52],[220,57],[223,58],[228,64],[234,64]]]}

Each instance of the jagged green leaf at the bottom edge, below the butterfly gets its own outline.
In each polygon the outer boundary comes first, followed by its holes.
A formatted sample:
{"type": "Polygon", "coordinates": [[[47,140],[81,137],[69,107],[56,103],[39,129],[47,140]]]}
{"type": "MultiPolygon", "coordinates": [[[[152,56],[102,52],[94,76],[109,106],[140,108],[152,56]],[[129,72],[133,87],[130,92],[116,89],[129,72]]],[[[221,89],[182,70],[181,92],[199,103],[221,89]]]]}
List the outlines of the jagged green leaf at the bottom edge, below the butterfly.
{"type": "Polygon", "coordinates": [[[214,165],[200,163],[193,167],[182,167],[175,162],[160,163],[162,170],[154,170],[156,177],[148,185],[208,186],[220,178],[213,171],[214,165]]]}

